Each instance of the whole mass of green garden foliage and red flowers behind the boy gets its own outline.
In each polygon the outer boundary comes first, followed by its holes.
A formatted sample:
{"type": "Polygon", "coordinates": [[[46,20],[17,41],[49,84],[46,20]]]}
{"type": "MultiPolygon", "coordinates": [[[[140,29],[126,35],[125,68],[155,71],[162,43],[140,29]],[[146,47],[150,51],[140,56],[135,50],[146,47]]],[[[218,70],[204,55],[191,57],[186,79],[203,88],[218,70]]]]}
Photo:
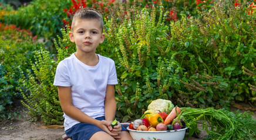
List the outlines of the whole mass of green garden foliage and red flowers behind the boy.
{"type": "Polygon", "coordinates": [[[1,118],[18,98],[32,117],[62,123],[52,82],[58,62],[76,50],[69,24],[82,7],[105,19],[97,53],[116,62],[120,120],[137,118],[159,97],[181,107],[256,104],[255,1],[0,2],[1,118]]]}

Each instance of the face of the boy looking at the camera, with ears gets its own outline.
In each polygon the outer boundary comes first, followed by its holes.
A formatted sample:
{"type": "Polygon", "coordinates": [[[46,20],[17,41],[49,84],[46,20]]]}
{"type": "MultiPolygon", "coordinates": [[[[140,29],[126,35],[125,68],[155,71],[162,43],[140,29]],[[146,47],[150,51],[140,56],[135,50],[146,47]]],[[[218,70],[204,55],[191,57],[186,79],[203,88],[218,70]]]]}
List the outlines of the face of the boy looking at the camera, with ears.
{"type": "Polygon", "coordinates": [[[103,43],[105,34],[102,33],[99,20],[76,19],[69,38],[76,43],[78,53],[95,53],[99,43],[103,43]]]}

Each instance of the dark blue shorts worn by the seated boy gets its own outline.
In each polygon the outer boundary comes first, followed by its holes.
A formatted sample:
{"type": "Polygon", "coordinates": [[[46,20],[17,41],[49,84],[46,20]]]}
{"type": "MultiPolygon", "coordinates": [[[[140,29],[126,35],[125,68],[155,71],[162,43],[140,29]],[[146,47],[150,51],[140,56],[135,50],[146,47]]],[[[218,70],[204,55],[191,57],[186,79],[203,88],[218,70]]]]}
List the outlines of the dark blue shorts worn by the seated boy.
{"type": "MultiPolygon", "coordinates": [[[[101,120],[105,120],[105,117],[98,117],[95,119],[101,121],[101,120]]],[[[89,140],[93,134],[99,131],[104,131],[104,130],[97,127],[94,124],[80,122],[79,124],[75,124],[71,128],[67,129],[65,133],[68,136],[68,138],[71,138],[72,140],[77,140],[77,139],[89,140]]],[[[128,131],[128,130],[122,126],[122,131],[128,131]]]]}

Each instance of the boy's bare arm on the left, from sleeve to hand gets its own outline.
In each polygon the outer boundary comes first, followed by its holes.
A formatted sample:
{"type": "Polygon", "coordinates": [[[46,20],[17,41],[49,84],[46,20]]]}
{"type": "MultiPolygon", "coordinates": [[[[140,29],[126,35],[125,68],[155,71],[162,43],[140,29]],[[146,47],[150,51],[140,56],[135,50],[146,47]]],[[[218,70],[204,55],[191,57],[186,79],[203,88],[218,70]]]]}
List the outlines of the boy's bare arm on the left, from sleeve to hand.
{"type": "Polygon", "coordinates": [[[103,121],[96,120],[90,117],[89,115],[86,115],[85,113],[83,113],[83,111],[80,111],[75,106],[73,106],[70,86],[69,87],[58,86],[58,93],[59,93],[60,106],[62,107],[62,110],[66,115],[80,122],[87,122],[90,124],[97,125],[98,127],[102,128],[104,131],[106,131],[112,136],[118,135],[118,134],[113,134],[112,132],[109,131],[109,128],[107,128],[110,126],[110,122],[105,120],[103,121]]]}

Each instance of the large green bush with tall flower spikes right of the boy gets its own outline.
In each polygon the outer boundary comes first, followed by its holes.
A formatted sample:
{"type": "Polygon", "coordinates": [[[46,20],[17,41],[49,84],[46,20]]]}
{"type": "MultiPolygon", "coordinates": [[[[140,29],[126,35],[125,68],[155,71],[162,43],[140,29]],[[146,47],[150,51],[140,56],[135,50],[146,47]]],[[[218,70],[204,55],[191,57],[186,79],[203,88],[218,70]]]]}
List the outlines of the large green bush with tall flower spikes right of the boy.
{"type": "Polygon", "coordinates": [[[247,86],[251,79],[242,74],[242,66],[255,62],[254,16],[247,14],[246,2],[241,8],[231,1],[211,4],[198,17],[183,15],[169,26],[162,6],[150,13],[127,8],[127,15],[106,20],[107,44],[101,53],[116,61],[120,115],[139,115],[145,100],[160,97],[164,84],[168,88],[161,97],[178,106],[229,108],[235,100],[254,101],[247,86]],[[154,19],[156,11],[161,11],[159,19],[154,19]],[[173,73],[165,70],[170,64],[175,64],[173,73]]]}

